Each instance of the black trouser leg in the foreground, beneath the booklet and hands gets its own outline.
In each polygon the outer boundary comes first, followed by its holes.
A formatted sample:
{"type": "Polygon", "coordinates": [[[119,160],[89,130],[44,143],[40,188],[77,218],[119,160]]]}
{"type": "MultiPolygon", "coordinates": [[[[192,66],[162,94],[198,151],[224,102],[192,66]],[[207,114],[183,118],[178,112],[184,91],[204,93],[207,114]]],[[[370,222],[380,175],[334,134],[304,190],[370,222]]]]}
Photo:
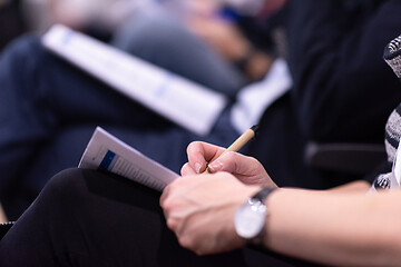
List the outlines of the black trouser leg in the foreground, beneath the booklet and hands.
{"type": "Polygon", "coordinates": [[[96,170],[55,176],[0,241],[0,266],[310,266],[243,248],[196,256],[165,224],[159,192],[96,170]]]}

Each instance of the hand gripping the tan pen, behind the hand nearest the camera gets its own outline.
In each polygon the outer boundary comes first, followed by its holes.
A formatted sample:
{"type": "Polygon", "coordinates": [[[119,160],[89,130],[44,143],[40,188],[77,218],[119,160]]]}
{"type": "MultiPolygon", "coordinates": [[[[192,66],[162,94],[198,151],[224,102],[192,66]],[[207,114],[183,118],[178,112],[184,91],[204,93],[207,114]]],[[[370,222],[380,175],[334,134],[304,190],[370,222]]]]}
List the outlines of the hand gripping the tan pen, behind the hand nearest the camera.
{"type": "Polygon", "coordinates": [[[208,167],[212,174],[227,171],[246,185],[277,187],[255,158],[202,141],[189,144],[187,155],[182,176],[203,174],[208,167]]]}

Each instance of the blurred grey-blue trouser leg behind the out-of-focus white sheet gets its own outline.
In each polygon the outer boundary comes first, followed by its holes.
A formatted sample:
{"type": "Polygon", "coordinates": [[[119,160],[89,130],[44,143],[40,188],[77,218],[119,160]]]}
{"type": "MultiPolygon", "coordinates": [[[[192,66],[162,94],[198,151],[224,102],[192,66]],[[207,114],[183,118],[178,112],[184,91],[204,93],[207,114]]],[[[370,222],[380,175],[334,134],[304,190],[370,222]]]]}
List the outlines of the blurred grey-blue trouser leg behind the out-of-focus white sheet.
{"type": "Polygon", "coordinates": [[[163,10],[136,12],[116,31],[113,43],[232,97],[245,83],[243,75],[228,61],[163,10]]]}

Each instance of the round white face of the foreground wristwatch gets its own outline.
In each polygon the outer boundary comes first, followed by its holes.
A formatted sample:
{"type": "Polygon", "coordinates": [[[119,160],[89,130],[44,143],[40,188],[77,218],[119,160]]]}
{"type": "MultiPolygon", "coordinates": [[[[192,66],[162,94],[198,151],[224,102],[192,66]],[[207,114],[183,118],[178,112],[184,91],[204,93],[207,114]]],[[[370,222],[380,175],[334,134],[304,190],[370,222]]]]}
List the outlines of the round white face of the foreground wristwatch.
{"type": "Polygon", "coordinates": [[[266,206],[255,199],[248,199],[235,214],[235,229],[242,238],[256,237],[263,229],[266,217],[266,206]]]}

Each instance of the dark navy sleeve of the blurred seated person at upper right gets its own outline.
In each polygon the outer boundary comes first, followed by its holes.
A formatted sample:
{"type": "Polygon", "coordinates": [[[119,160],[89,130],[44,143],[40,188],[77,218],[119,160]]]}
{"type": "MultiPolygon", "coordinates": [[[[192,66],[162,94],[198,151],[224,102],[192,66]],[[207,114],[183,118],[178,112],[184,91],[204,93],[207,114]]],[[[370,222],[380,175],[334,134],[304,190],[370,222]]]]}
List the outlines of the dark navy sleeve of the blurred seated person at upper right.
{"type": "Polygon", "coordinates": [[[292,101],[309,139],[383,140],[401,100],[401,85],[382,59],[401,32],[400,13],[394,0],[291,2],[292,101]]]}

